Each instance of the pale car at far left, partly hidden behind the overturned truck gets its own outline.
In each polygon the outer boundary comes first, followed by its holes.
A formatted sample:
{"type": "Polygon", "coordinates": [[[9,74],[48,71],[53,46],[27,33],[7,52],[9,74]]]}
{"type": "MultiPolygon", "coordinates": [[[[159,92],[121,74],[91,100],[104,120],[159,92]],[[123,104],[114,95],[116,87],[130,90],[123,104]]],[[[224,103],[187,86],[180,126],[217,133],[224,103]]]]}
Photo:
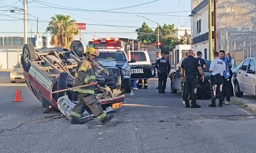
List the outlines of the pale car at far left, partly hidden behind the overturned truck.
{"type": "Polygon", "coordinates": [[[11,83],[16,83],[17,81],[25,81],[22,72],[23,69],[20,67],[20,63],[17,63],[14,69],[10,72],[11,83]]]}

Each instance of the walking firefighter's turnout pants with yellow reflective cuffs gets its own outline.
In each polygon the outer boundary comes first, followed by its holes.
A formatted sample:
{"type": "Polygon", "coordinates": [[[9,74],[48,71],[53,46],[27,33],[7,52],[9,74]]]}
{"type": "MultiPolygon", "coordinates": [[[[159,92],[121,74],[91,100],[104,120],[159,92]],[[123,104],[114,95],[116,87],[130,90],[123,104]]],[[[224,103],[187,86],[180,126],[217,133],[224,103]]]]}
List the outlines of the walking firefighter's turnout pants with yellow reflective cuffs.
{"type": "Polygon", "coordinates": [[[88,106],[99,121],[102,121],[102,119],[106,117],[106,113],[103,111],[98,99],[94,94],[79,93],[78,101],[79,102],[72,110],[71,115],[81,117],[84,109],[88,106]]]}

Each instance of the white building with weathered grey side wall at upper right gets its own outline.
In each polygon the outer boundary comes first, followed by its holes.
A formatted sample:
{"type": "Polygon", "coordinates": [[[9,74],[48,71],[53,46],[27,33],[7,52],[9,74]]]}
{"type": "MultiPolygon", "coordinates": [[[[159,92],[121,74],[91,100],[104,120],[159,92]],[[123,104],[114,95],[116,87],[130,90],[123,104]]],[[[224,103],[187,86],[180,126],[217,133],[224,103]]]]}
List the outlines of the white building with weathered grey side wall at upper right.
{"type": "MultiPolygon", "coordinates": [[[[214,49],[214,3],[212,0],[212,50],[214,49]]],[[[218,50],[235,55],[239,63],[248,56],[246,45],[256,44],[256,0],[218,0],[217,2],[218,50]],[[244,56],[243,56],[244,54],[244,56]]],[[[201,51],[203,58],[209,60],[208,39],[208,0],[191,0],[191,38],[192,50],[201,51]]]]}

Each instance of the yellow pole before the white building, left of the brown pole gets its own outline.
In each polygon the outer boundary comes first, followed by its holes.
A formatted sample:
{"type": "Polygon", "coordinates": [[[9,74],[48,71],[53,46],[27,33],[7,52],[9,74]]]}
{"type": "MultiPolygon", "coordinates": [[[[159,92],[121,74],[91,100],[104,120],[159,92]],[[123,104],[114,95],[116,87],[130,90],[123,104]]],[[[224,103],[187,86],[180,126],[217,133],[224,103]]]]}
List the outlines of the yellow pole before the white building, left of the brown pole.
{"type": "Polygon", "coordinates": [[[209,28],[209,59],[212,60],[212,20],[211,20],[211,0],[208,0],[208,28],[209,28]]]}

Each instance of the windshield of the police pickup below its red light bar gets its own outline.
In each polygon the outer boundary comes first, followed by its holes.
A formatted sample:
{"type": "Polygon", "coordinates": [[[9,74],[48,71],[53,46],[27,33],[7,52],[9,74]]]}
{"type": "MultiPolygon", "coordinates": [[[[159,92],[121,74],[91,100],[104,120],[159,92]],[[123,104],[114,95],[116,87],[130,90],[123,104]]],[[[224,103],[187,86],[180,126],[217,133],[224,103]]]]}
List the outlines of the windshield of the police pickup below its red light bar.
{"type": "Polygon", "coordinates": [[[99,52],[99,56],[95,57],[96,60],[114,60],[118,62],[126,62],[123,52],[99,52]]]}

